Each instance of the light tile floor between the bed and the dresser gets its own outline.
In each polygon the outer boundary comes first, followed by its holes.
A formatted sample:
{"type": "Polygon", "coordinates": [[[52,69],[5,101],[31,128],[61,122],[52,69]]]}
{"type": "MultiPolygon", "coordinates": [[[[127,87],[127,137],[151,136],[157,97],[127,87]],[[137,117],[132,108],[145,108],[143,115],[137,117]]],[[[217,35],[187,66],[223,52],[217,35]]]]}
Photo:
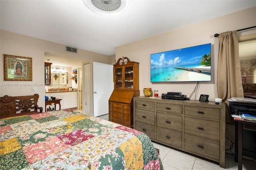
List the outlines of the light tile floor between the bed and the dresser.
{"type": "MultiPolygon", "coordinates": [[[[108,114],[99,116],[99,118],[108,120],[108,114]]],[[[155,148],[159,149],[164,170],[224,170],[224,168],[220,168],[218,162],[188,154],[156,142],[153,142],[153,144],[155,148]]],[[[234,155],[226,154],[225,169],[238,169],[238,163],[234,161],[234,155]]],[[[243,170],[256,170],[256,160],[243,159],[243,170]]]]}

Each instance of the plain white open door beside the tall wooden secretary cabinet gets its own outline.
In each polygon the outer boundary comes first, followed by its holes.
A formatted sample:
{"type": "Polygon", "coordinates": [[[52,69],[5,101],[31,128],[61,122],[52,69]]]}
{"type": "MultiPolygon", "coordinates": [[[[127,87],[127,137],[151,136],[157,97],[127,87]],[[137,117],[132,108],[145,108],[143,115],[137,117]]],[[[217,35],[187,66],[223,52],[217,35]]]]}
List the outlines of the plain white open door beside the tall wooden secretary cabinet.
{"type": "Polygon", "coordinates": [[[108,114],[108,99],[112,94],[113,65],[93,62],[93,115],[108,114]]]}

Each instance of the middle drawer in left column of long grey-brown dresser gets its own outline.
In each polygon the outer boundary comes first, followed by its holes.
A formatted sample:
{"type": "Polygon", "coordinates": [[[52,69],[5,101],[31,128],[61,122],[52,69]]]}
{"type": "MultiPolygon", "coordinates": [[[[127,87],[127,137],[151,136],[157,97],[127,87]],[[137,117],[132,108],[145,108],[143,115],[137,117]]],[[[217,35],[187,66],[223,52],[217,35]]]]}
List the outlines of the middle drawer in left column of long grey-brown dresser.
{"type": "Polygon", "coordinates": [[[154,111],[146,111],[142,109],[135,109],[135,121],[139,121],[142,123],[147,123],[150,125],[155,125],[155,112],[154,111]]]}

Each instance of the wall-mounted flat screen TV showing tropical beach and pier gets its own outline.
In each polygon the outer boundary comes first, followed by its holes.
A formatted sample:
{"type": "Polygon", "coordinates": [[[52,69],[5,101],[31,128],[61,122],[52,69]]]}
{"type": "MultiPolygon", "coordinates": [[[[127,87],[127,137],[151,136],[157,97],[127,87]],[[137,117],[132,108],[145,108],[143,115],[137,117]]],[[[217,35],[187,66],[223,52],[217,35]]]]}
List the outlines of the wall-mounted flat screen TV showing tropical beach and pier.
{"type": "Polygon", "coordinates": [[[211,43],[150,55],[150,82],[211,81],[211,43]]]}

